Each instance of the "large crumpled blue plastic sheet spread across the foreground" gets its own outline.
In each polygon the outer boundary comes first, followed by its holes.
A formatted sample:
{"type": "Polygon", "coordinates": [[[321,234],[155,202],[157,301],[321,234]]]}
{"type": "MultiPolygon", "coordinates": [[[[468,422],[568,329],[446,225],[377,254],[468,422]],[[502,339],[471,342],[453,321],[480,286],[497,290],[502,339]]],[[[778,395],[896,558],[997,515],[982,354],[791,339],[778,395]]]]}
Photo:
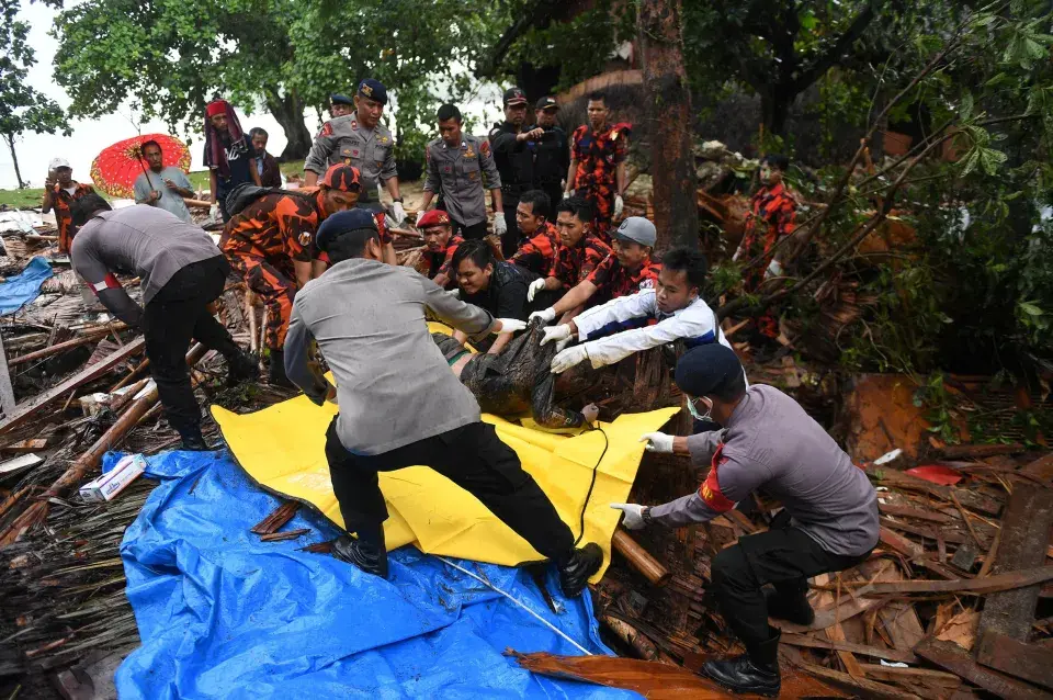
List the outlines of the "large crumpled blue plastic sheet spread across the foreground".
{"type": "MultiPolygon", "coordinates": [[[[118,455],[107,455],[112,464],[118,455]]],[[[160,485],[127,529],[121,556],[143,640],[122,663],[122,700],[298,698],[638,698],[535,676],[506,657],[580,654],[478,582],[411,546],[384,580],[298,551],[338,531],[307,508],[285,542],[249,532],[279,499],[222,452],[148,460],[160,485]]],[[[590,652],[609,654],[588,592],[567,600],[548,572],[554,614],[525,572],[457,560],[590,652]]]]}

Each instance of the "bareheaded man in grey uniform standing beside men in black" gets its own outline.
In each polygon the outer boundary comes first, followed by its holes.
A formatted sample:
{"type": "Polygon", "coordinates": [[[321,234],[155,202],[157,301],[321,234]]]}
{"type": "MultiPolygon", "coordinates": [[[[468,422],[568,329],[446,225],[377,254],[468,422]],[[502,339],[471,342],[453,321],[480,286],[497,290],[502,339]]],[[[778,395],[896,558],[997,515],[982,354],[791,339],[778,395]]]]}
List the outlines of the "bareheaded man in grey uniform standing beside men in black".
{"type": "Polygon", "coordinates": [[[417,219],[442,189],[446,213],[454,229],[465,238],[486,236],[486,190],[494,199],[494,233],[508,232],[501,206],[501,177],[494,163],[490,143],[461,131],[464,118],[453,104],[439,108],[440,137],[428,144],[424,151],[428,169],[424,179],[424,200],[417,219]]]}

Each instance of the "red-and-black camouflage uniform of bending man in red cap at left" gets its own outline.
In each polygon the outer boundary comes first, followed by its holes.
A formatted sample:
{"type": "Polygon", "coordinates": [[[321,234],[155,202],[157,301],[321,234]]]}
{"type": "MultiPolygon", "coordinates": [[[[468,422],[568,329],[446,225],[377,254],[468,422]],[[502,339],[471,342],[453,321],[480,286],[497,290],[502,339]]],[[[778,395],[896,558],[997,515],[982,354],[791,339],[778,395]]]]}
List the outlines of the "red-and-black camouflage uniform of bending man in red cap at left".
{"type": "Polygon", "coordinates": [[[265,345],[281,350],[296,294],[293,261],[315,257],[315,234],[326,218],[324,192],[265,194],[227,222],[219,238],[230,267],[268,311],[265,345]]]}

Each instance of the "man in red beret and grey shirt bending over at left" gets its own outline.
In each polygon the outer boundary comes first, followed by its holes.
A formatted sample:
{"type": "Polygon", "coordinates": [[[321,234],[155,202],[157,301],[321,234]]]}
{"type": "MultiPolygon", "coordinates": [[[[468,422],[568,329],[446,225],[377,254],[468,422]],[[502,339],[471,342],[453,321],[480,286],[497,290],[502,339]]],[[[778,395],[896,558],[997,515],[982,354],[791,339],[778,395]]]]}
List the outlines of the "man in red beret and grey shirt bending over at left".
{"type": "Polygon", "coordinates": [[[230,266],[208,234],[162,208],[139,204],[116,212],[98,194],[73,205],[79,230],[70,257],[99,301],[129,326],[141,326],[157,393],[184,450],[207,450],[201,410],[186,371],[191,339],[227,359],[231,382],[257,374],[252,362],[208,305],[223,294],[230,266]],[[113,271],[143,279],[139,308],[113,271]]]}

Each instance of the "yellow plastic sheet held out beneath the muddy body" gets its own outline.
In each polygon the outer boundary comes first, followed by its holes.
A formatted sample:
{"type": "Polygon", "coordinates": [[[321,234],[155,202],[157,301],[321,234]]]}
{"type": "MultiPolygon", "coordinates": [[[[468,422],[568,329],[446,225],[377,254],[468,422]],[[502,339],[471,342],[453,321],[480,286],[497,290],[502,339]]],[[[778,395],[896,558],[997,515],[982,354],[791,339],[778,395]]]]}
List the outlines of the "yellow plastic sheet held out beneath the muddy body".
{"type": "MultiPolygon", "coordinates": [[[[597,582],[610,564],[611,537],[621,515],[610,504],[629,497],[644,454],[639,436],[660,428],[677,410],[626,414],[603,424],[602,431],[573,437],[523,428],[497,416],[483,419],[494,424],[498,437],[516,450],[575,538],[581,532],[581,508],[586,507],[581,541],[603,549],[603,567],[592,578],[597,582]],[[586,504],[597,462],[596,486],[586,504]]],[[[313,505],[343,527],[325,455],[326,429],[336,413],[336,406],[315,406],[306,396],[254,414],[212,407],[223,437],[249,476],[268,490],[313,505]]],[[[388,550],[412,543],[428,554],[508,566],[543,558],[475,496],[430,468],[381,473],[380,483],[390,513],[384,523],[388,550]]]]}

